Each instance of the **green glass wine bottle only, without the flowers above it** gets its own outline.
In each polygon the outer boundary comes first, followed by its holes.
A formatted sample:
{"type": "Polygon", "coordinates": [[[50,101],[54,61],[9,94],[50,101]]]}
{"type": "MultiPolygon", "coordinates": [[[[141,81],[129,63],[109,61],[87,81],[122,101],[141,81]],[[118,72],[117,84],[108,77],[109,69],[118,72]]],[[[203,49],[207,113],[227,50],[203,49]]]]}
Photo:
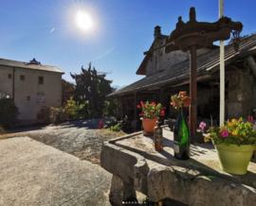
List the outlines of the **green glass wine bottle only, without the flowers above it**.
{"type": "Polygon", "coordinates": [[[190,132],[182,107],[179,109],[174,127],[174,157],[180,160],[190,159],[190,132]]]}

